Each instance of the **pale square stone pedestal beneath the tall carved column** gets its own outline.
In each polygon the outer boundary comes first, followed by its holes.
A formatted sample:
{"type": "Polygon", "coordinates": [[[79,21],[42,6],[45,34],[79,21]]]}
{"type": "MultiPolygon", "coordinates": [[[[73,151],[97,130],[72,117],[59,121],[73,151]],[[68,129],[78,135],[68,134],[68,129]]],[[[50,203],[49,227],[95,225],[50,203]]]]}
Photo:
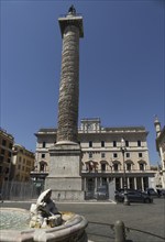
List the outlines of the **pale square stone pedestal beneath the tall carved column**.
{"type": "Polygon", "coordinates": [[[50,148],[50,175],[45,189],[52,189],[55,200],[84,200],[81,170],[81,150],[74,142],[58,142],[50,148]]]}

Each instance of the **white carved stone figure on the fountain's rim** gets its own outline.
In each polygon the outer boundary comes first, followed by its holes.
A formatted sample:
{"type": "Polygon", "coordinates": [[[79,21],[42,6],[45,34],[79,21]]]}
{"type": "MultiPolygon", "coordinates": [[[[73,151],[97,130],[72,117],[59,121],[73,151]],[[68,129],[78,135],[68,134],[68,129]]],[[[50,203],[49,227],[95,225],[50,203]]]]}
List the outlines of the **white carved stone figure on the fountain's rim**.
{"type": "Polygon", "coordinates": [[[62,215],[51,199],[52,190],[43,191],[36,204],[31,205],[30,228],[52,228],[62,224],[62,215]]]}

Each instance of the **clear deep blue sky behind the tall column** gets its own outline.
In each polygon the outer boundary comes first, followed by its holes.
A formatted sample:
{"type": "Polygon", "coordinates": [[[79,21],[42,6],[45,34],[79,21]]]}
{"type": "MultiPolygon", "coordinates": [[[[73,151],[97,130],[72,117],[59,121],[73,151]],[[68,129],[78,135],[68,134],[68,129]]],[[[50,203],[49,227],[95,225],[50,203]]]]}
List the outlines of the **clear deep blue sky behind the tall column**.
{"type": "Polygon", "coordinates": [[[57,125],[62,36],[70,4],[84,18],[79,120],[102,127],[144,125],[150,160],[154,116],[165,123],[165,2],[1,0],[1,128],[35,151],[34,133],[57,125]]]}

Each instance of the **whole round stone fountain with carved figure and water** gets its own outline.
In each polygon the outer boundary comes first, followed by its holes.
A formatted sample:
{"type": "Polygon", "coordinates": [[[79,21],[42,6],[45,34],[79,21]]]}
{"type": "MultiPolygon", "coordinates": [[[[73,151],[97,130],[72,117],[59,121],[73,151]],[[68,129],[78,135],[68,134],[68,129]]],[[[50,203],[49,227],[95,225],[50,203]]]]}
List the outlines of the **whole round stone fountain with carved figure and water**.
{"type": "Polygon", "coordinates": [[[52,190],[42,193],[30,211],[1,208],[1,242],[87,242],[87,220],[73,212],[58,211],[52,190]],[[3,221],[2,221],[3,220],[3,221]]]}

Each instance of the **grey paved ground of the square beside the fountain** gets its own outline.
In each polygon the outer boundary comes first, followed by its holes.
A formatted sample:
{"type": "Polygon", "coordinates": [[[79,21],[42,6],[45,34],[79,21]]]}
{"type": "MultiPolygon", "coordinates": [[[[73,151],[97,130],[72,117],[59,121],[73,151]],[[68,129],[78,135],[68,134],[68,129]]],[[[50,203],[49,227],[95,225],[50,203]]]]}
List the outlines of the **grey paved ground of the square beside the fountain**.
{"type": "MultiPolygon", "coordinates": [[[[128,242],[165,242],[165,199],[155,198],[153,204],[112,202],[56,202],[58,210],[85,216],[89,221],[88,239],[94,242],[114,242],[111,228],[116,221],[124,222],[128,242]]],[[[1,207],[30,209],[31,202],[0,204],[1,207]]]]}

